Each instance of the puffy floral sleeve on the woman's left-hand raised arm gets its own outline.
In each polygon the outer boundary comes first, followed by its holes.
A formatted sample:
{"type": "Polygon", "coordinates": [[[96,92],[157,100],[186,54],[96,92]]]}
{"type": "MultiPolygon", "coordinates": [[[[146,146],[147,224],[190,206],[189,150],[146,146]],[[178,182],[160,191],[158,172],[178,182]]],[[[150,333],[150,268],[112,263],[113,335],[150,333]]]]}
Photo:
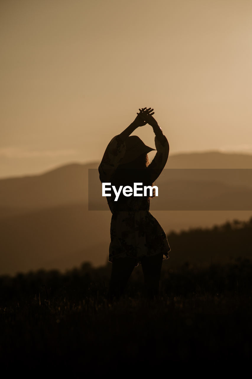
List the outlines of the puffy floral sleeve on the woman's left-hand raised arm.
{"type": "Polygon", "coordinates": [[[102,183],[109,182],[112,174],[120,164],[121,158],[124,157],[126,151],[125,142],[120,136],[113,137],[106,147],[100,166],[98,168],[100,180],[102,183]]]}

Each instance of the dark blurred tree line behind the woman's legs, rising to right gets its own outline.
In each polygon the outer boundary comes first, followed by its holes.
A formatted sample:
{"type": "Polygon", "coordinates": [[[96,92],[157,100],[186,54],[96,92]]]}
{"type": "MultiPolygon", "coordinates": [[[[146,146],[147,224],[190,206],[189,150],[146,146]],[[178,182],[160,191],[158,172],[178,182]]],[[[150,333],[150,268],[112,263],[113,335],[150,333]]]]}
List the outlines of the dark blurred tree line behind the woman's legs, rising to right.
{"type": "MultiPolygon", "coordinates": [[[[188,296],[205,292],[251,292],[252,218],[233,220],[211,229],[190,229],[168,234],[170,258],[163,261],[161,292],[188,296]]],[[[0,276],[0,304],[104,298],[109,286],[111,263],[94,268],[84,262],[79,268],[17,273],[0,276]]],[[[134,269],[129,296],[143,291],[142,268],[134,269]]]]}

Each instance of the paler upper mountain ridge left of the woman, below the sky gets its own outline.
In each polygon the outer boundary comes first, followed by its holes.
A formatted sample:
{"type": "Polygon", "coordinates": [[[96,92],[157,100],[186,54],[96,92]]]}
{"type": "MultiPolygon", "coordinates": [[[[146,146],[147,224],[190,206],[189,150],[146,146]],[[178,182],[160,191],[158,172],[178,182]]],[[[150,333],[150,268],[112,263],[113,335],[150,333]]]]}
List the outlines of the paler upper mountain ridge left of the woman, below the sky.
{"type": "Polygon", "coordinates": [[[97,163],[68,164],[38,175],[0,179],[1,215],[62,204],[87,203],[88,169],[97,163]]]}

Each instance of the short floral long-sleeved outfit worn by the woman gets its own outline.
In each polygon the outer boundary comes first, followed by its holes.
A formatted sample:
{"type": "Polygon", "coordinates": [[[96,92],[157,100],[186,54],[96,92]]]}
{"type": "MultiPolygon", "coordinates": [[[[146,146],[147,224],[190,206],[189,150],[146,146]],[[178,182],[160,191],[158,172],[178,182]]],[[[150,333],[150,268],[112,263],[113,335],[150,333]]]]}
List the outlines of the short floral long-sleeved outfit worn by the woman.
{"type": "MultiPolygon", "coordinates": [[[[155,136],[157,153],[149,166],[145,169],[149,174],[149,180],[153,183],[165,167],[169,154],[169,144],[162,134],[155,136]]],[[[108,144],[103,159],[98,168],[102,183],[111,182],[111,177],[121,158],[126,151],[125,142],[117,135],[108,144]]],[[[141,180],[139,180],[141,182],[141,180]]],[[[112,212],[110,223],[109,262],[114,257],[134,257],[135,267],[141,264],[141,258],[145,255],[163,253],[163,259],[168,259],[170,246],[166,234],[157,221],[149,212],[149,199],[147,197],[126,197],[126,208],[118,210],[117,202],[112,197],[107,197],[107,202],[112,212]]],[[[121,193],[120,196],[123,196],[121,193]]]]}

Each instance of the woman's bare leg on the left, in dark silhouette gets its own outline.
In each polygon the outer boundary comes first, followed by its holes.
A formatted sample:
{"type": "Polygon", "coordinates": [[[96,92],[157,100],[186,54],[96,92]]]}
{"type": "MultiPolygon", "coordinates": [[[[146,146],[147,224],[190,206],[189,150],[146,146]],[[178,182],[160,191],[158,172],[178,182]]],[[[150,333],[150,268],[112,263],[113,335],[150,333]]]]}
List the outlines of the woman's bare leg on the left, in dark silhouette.
{"type": "Polygon", "coordinates": [[[109,299],[119,299],[135,267],[135,258],[113,258],[109,283],[109,299]]]}

